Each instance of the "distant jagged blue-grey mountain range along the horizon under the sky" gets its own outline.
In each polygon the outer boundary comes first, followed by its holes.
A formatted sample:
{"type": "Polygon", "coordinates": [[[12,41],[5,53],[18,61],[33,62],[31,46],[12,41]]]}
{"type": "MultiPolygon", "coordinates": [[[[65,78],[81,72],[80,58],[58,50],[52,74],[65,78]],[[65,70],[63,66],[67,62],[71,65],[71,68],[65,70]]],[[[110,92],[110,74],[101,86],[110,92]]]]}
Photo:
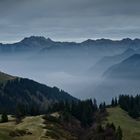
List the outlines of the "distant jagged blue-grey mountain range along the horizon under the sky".
{"type": "Polygon", "coordinates": [[[50,50],[50,49],[84,49],[84,50],[108,50],[112,51],[112,54],[116,49],[118,51],[124,51],[125,49],[132,48],[134,50],[140,49],[140,39],[122,39],[122,40],[110,40],[110,39],[88,39],[81,43],[76,42],[59,42],[53,41],[50,38],[31,36],[26,37],[20,42],[13,44],[0,44],[0,52],[18,52],[18,51],[30,51],[30,50],[50,50]]]}

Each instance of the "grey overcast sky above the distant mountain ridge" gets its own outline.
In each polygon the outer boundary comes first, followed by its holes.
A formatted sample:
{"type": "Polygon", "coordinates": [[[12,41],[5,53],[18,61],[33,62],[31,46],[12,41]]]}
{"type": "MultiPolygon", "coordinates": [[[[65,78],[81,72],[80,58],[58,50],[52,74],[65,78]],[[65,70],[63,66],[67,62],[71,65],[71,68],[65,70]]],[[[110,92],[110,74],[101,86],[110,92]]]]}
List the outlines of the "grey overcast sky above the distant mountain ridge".
{"type": "Polygon", "coordinates": [[[0,0],[0,42],[140,38],[140,0],[0,0]]]}

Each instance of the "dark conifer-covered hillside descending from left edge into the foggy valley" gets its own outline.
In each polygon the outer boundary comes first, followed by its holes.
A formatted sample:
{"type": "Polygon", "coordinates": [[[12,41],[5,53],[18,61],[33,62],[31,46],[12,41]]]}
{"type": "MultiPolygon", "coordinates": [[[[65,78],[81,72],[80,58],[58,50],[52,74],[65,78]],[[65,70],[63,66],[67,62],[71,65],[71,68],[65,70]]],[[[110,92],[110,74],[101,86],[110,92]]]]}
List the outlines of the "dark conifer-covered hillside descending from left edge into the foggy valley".
{"type": "MultiPolygon", "coordinates": [[[[51,103],[58,101],[76,101],[77,99],[57,87],[49,87],[30,79],[15,78],[0,73],[0,112],[15,113],[17,105],[24,106],[26,112],[35,114],[46,111],[51,103]]],[[[32,114],[34,115],[34,114],[32,114]]]]}

